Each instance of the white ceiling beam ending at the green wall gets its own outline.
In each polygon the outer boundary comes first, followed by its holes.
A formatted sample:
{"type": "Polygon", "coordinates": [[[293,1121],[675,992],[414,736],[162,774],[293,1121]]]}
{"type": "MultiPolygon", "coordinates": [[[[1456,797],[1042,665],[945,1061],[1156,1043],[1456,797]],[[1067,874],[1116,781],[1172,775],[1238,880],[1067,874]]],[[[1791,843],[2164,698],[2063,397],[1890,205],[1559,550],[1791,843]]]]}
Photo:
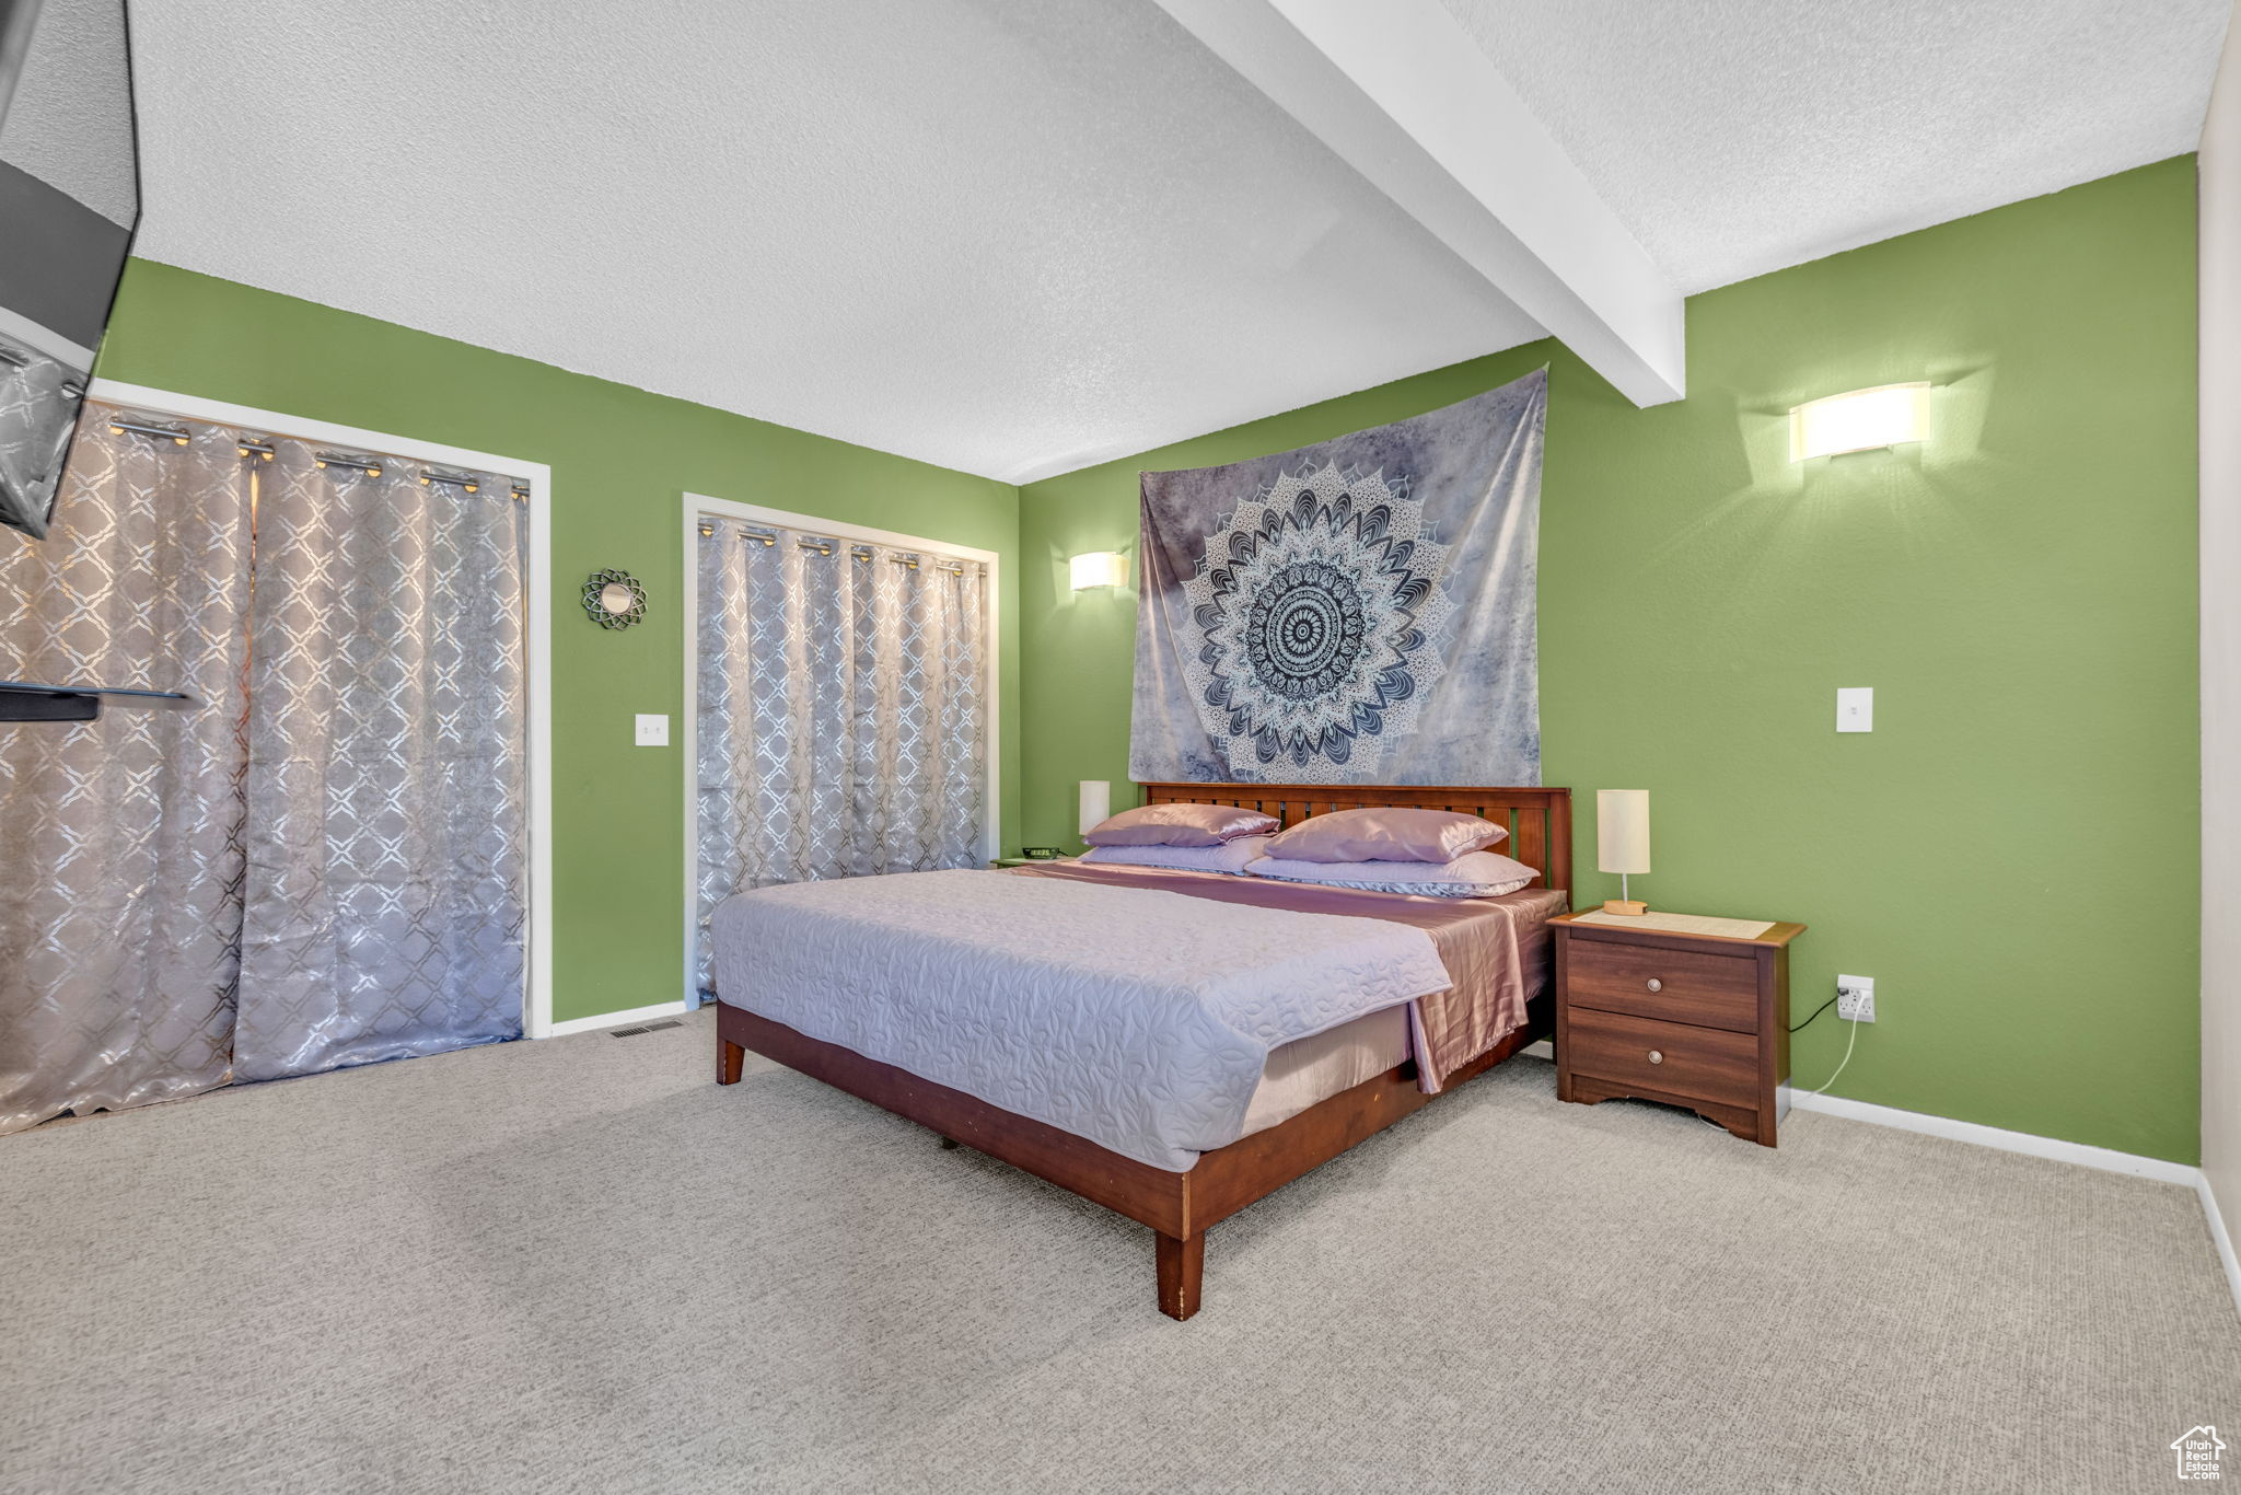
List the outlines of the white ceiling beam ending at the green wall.
{"type": "Polygon", "coordinates": [[[1627,399],[1681,399],[1681,291],[1439,0],[1159,4],[1627,399]]]}

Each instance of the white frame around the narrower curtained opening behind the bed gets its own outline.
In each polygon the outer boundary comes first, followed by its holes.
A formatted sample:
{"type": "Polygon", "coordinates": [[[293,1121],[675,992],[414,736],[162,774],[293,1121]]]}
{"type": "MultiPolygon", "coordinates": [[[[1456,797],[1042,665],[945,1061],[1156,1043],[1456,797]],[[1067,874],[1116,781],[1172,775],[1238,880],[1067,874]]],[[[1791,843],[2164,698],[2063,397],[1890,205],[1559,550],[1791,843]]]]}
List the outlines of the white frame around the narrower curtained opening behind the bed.
{"type": "Polygon", "coordinates": [[[1004,657],[1004,641],[997,632],[1002,598],[1002,556],[993,549],[975,549],[970,545],[955,545],[950,540],[928,540],[923,536],[903,536],[892,529],[867,529],[863,524],[836,524],[831,520],[818,518],[813,513],[791,513],[787,509],[764,509],[762,504],[740,504],[728,498],[708,498],[706,493],[686,493],[684,498],[684,556],[686,556],[686,713],[684,713],[684,751],[686,751],[686,995],[684,1004],[699,1002],[697,982],[692,977],[695,946],[699,944],[699,518],[708,513],[722,520],[744,520],[748,524],[771,524],[773,529],[798,529],[811,536],[831,536],[834,540],[847,540],[852,545],[885,545],[890,549],[921,551],[928,556],[948,556],[952,560],[977,560],[988,567],[988,589],[982,598],[986,607],[986,639],[988,650],[982,659],[982,702],[986,711],[984,742],[988,753],[988,784],[986,784],[986,816],[982,818],[982,861],[995,861],[1004,849],[1004,753],[999,728],[1004,722],[1004,711],[999,702],[1002,670],[999,661],[1004,657]]]}

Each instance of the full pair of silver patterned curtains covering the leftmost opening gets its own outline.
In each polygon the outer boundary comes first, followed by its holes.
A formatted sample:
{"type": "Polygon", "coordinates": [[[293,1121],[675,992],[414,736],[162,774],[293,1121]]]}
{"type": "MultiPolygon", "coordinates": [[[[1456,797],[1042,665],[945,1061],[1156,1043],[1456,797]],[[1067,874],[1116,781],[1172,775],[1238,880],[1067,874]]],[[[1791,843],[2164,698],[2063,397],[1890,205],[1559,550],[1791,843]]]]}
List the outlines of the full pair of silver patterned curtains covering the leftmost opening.
{"type": "Polygon", "coordinates": [[[193,711],[0,724],[0,1132],[520,1033],[511,484],[87,406],[0,551],[0,679],[193,711]]]}

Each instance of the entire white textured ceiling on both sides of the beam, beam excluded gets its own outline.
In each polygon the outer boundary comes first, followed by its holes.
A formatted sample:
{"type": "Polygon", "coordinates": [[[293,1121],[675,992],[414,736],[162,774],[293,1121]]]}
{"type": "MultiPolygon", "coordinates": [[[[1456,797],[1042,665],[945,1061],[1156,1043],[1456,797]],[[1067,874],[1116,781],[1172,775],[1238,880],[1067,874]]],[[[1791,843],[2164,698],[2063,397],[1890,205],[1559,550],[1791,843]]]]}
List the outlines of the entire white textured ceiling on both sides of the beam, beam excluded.
{"type": "MultiPolygon", "coordinates": [[[[2192,148],[2223,20],[1448,4],[1687,289],[2192,148]]],[[[132,16],[139,253],[1002,480],[1540,332],[1152,0],[132,16]]]]}

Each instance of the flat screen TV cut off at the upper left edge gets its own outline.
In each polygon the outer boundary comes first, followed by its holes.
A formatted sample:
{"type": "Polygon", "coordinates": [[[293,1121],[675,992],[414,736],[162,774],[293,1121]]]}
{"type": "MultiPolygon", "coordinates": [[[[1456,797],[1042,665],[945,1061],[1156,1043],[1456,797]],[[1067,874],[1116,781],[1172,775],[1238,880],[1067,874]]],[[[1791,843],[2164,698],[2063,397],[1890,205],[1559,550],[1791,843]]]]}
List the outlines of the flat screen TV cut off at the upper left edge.
{"type": "Polygon", "coordinates": [[[34,540],[137,226],[125,0],[0,0],[0,524],[34,540]]]}

